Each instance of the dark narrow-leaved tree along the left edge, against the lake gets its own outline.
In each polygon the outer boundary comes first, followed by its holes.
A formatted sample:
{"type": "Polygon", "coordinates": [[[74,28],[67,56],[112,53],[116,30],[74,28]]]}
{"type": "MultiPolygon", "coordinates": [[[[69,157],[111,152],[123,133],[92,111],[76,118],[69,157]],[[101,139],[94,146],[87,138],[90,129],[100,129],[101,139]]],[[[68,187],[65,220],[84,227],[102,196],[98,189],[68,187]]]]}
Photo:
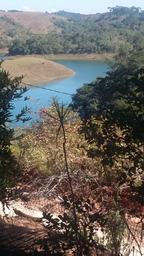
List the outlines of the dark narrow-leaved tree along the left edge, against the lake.
{"type": "MultiPolygon", "coordinates": [[[[15,109],[14,102],[28,89],[19,86],[23,76],[11,79],[10,74],[2,69],[2,63],[3,60],[0,61],[0,201],[4,205],[15,196],[11,187],[14,185],[14,174],[17,171],[16,159],[10,148],[14,139],[14,129],[10,128],[9,124],[19,120],[25,122],[31,118],[24,117],[29,111],[26,106],[12,120],[14,115],[11,111],[15,109]]],[[[28,98],[25,97],[24,100],[28,98]]]]}

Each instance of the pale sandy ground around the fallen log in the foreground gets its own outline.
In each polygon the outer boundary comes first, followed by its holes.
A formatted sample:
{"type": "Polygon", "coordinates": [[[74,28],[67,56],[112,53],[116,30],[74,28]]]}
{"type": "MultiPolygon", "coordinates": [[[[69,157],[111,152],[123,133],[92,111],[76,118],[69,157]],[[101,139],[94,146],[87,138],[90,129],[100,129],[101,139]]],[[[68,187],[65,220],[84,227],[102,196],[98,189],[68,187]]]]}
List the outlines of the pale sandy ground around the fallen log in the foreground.
{"type": "MultiPolygon", "coordinates": [[[[29,219],[29,218],[27,219],[27,218],[23,218],[22,216],[17,216],[14,213],[13,209],[18,209],[22,213],[25,213],[25,214],[27,214],[27,215],[29,215],[31,217],[43,218],[42,211],[34,210],[34,206],[31,206],[31,209],[28,206],[26,207],[26,205],[21,200],[19,200],[18,202],[12,201],[10,203],[10,205],[9,205],[9,209],[7,207],[5,207],[5,213],[3,212],[3,207],[2,207],[2,204],[0,202],[0,219],[1,219],[0,227],[3,225],[4,226],[3,228],[4,229],[6,228],[7,231],[9,231],[9,233],[11,235],[13,233],[15,233],[15,232],[17,234],[21,235],[21,233],[23,232],[23,229],[27,229],[28,233],[36,231],[36,230],[38,232],[39,231],[44,232],[45,226],[47,226],[47,220],[42,219],[43,221],[40,224],[39,222],[34,222],[32,219],[29,219]],[[6,226],[6,222],[5,223],[2,222],[2,216],[4,216],[5,214],[8,214],[8,216],[10,217],[9,224],[12,221],[12,224],[13,224],[12,229],[9,229],[9,227],[6,226]]],[[[53,215],[53,218],[57,218],[57,214],[53,215]]],[[[135,223],[139,222],[139,219],[138,218],[134,218],[134,219],[132,219],[130,221],[135,224],[135,223]]],[[[1,229],[0,229],[0,232],[1,232],[1,229]]],[[[99,238],[103,237],[104,234],[103,234],[103,232],[101,232],[101,228],[98,228],[97,235],[98,235],[99,238]]],[[[135,235],[136,235],[136,237],[138,238],[138,241],[139,241],[139,237],[138,237],[139,235],[138,234],[135,234],[135,235]]],[[[127,238],[125,238],[124,242],[125,243],[128,242],[127,238]]],[[[141,244],[140,245],[141,253],[144,254],[144,244],[143,243],[140,243],[140,244],[141,244]]],[[[124,252],[125,252],[125,249],[124,249],[124,252]]],[[[123,250],[121,251],[121,253],[123,253],[123,250]]],[[[139,248],[138,248],[137,244],[134,241],[132,243],[129,256],[140,256],[139,248]]]]}

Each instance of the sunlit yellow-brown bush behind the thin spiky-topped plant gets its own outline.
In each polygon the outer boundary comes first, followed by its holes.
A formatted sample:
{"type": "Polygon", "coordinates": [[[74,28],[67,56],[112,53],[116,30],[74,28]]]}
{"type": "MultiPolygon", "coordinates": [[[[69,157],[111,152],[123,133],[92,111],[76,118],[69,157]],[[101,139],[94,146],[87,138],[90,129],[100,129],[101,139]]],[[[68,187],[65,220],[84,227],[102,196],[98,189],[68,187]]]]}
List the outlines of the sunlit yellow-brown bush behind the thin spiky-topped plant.
{"type": "MultiPolygon", "coordinates": [[[[36,169],[41,174],[46,174],[45,185],[51,192],[65,184],[65,160],[63,155],[63,135],[62,131],[56,139],[59,128],[57,120],[53,120],[48,114],[58,118],[56,108],[51,105],[50,108],[40,108],[35,113],[37,121],[33,121],[29,127],[23,128],[23,133],[19,138],[19,148],[21,150],[20,166],[25,169],[36,169]],[[48,178],[49,177],[49,178],[48,178]],[[49,187],[49,188],[48,188],[49,187]]],[[[67,162],[70,168],[70,174],[73,185],[87,183],[88,177],[93,173],[95,177],[98,161],[91,161],[86,156],[84,147],[86,142],[84,137],[79,135],[80,119],[77,113],[70,111],[65,120],[65,135],[67,139],[67,162]]],[[[19,131],[20,132],[20,131],[19,131]]],[[[39,181],[38,181],[39,182],[39,181]]],[[[40,190],[43,191],[43,188],[40,190]]],[[[45,194],[43,193],[43,194],[45,194]]]]}

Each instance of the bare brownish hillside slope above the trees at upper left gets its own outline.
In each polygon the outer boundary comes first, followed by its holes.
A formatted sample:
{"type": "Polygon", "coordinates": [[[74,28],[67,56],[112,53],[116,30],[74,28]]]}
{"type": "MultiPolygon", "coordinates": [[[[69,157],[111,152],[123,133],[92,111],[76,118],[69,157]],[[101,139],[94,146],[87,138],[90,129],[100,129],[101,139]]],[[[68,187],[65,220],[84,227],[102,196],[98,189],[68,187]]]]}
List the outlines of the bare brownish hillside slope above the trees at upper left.
{"type": "Polygon", "coordinates": [[[53,14],[46,15],[42,12],[0,12],[0,17],[4,15],[21,23],[25,28],[30,29],[33,34],[47,34],[53,30],[61,32],[61,29],[53,24],[54,20],[52,18],[67,20],[66,17],[53,14]]]}

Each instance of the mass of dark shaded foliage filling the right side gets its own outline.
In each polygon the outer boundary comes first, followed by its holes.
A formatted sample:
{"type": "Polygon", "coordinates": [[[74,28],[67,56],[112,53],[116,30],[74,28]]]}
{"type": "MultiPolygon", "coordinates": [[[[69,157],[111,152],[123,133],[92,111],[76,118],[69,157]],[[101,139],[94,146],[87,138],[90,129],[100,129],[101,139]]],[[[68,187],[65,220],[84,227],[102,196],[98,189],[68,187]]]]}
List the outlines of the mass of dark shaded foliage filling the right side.
{"type": "Polygon", "coordinates": [[[85,148],[87,156],[99,159],[114,197],[114,207],[119,210],[117,213],[109,211],[110,223],[104,229],[107,248],[113,248],[118,255],[125,228],[140,250],[140,243],[132,234],[125,211],[143,222],[144,68],[136,70],[139,63],[133,65],[127,59],[120,62],[120,55],[116,59],[118,62],[112,65],[111,72],[77,89],[72,99],[73,109],[78,109],[83,121],[80,134],[85,135],[90,147],[85,148]],[[127,191],[125,186],[133,196],[131,202],[125,198],[122,203],[121,194],[127,191]]]}

